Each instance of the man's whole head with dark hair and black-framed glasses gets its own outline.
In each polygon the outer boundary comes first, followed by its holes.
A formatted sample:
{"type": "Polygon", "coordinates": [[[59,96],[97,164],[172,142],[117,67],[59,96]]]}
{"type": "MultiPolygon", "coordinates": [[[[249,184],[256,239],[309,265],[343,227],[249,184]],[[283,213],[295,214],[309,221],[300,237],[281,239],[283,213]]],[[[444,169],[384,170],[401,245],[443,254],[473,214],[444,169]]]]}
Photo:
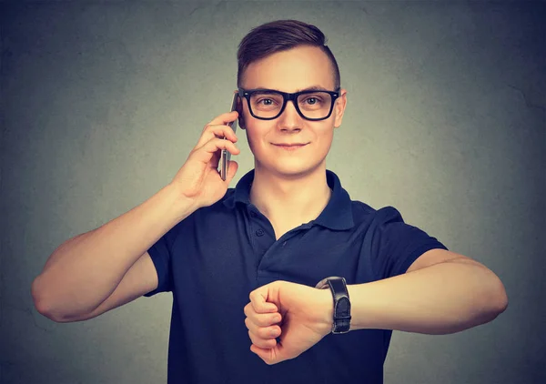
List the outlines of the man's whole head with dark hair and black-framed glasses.
{"type": "Polygon", "coordinates": [[[240,95],[258,88],[295,93],[316,87],[330,93],[300,95],[286,102],[279,116],[282,96],[247,93],[239,100],[239,125],[247,131],[257,168],[287,175],[324,165],[334,127],[341,124],[346,105],[346,91],[339,89],[338,64],[325,43],[316,26],[296,20],[259,25],[241,41],[240,95]],[[318,110],[319,103],[324,112],[318,110]],[[276,146],[279,143],[306,146],[287,151],[276,146]]]}

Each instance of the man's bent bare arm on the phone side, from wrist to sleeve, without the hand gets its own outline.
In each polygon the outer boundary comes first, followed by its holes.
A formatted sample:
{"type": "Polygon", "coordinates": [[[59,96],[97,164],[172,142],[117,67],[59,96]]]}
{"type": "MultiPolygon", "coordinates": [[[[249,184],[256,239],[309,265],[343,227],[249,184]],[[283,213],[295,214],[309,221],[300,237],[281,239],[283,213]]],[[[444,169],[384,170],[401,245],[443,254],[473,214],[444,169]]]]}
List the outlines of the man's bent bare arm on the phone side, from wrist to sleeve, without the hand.
{"type": "Polygon", "coordinates": [[[32,284],[35,308],[57,322],[92,318],[157,287],[147,249],[189,216],[170,184],[105,225],[67,240],[32,284]],[[154,287],[155,286],[155,287],[154,287]]]}

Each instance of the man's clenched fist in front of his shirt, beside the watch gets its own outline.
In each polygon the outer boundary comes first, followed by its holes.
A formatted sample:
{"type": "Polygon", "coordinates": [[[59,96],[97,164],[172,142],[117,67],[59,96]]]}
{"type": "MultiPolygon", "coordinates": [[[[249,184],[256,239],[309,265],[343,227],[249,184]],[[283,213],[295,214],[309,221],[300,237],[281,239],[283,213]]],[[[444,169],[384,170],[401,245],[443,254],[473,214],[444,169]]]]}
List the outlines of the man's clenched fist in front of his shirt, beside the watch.
{"type": "Polygon", "coordinates": [[[250,293],[245,315],[250,350],[277,364],[298,357],[329,334],[333,298],[329,289],[275,281],[250,293]]]}

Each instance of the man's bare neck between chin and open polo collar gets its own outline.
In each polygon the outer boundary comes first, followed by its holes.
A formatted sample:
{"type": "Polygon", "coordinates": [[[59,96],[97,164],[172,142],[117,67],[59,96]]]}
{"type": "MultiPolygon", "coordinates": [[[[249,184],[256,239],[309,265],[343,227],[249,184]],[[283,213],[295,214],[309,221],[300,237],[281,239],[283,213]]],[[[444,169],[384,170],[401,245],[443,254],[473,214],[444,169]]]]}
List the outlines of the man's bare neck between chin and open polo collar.
{"type": "Polygon", "coordinates": [[[255,167],[250,202],[271,222],[299,225],[319,217],[331,190],[326,165],[305,175],[273,175],[255,167]]]}

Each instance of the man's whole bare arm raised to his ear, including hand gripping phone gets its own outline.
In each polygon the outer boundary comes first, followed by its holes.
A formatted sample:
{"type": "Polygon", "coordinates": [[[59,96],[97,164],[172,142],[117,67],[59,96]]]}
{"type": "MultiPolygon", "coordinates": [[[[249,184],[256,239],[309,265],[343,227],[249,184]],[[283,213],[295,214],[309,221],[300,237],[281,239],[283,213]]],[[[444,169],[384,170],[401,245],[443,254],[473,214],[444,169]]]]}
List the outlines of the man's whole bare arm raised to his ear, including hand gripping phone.
{"type": "Polygon", "coordinates": [[[239,153],[234,144],[237,136],[227,126],[237,116],[237,111],[216,116],[203,128],[196,147],[167,187],[122,216],[56,248],[32,283],[36,309],[55,321],[76,321],[157,288],[157,271],[147,249],[199,207],[226,195],[238,163],[229,162],[223,180],[215,154],[221,150],[239,153]]]}

